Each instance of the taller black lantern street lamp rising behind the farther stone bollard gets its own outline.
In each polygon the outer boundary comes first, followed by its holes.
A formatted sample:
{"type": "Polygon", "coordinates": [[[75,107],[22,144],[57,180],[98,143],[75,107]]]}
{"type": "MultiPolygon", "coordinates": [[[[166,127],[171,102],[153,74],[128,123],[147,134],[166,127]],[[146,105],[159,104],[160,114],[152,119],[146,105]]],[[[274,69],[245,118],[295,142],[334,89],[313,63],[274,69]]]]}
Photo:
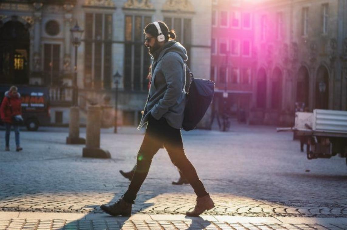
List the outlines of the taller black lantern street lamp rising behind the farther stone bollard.
{"type": "Polygon", "coordinates": [[[72,44],[75,46],[75,67],[74,67],[74,79],[72,82],[73,85],[73,105],[77,106],[78,104],[78,86],[77,86],[77,48],[79,45],[81,45],[81,37],[84,32],[83,29],[81,29],[77,22],[76,25],[70,29],[70,32],[73,37],[72,44]]]}

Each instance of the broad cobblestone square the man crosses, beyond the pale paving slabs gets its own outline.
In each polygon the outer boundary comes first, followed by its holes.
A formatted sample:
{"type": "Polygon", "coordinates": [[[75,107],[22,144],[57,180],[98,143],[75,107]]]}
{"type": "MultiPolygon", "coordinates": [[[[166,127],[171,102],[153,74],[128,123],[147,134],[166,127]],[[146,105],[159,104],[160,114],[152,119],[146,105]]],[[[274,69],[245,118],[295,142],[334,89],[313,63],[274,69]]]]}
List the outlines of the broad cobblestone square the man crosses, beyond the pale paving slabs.
{"type": "MultiPolygon", "coordinates": [[[[3,141],[0,142],[1,211],[101,213],[100,204],[115,202],[126,191],[129,182],[118,170],[133,167],[143,131],[121,127],[118,134],[113,134],[112,129],[103,130],[101,148],[109,150],[112,159],[82,158],[84,146],[66,145],[67,133],[66,128],[48,127],[39,132],[23,131],[20,133],[22,152],[15,152],[13,133],[12,151],[2,151],[5,146],[3,141]]],[[[231,131],[225,133],[184,132],[186,154],[216,205],[205,214],[346,217],[345,159],[307,160],[292,135],[276,133],[275,127],[236,123],[232,123],[231,131]]],[[[85,136],[84,129],[81,136],[85,136]]],[[[0,140],[3,139],[4,132],[1,131],[0,140]]],[[[171,185],[178,176],[167,153],[160,150],[153,159],[133,213],[184,214],[191,210],[195,203],[191,186],[171,185]]],[[[23,225],[24,220],[21,221],[23,225]]],[[[2,220],[0,225],[12,222],[2,220]]],[[[41,223],[55,224],[30,222],[31,225],[41,223]]],[[[120,223],[114,224],[119,227],[120,223]]],[[[127,226],[134,224],[127,222],[127,226]]],[[[187,227],[186,224],[178,223],[187,227]]],[[[218,229],[218,224],[212,223],[211,228],[218,229]]],[[[233,227],[228,223],[220,224],[233,227]]]]}

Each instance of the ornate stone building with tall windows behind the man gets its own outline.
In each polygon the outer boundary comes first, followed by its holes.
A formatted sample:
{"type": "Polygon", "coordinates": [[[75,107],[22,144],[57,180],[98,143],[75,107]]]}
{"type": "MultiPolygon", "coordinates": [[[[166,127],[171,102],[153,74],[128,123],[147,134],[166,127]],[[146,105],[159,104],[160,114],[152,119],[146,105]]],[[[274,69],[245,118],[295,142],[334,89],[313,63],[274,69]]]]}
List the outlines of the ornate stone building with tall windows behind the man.
{"type": "Polygon", "coordinates": [[[110,98],[109,106],[114,105],[113,76],[118,72],[119,124],[137,125],[151,63],[143,45],[144,26],[163,20],[175,29],[177,41],[187,48],[191,70],[209,79],[211,6],[211,0],[3,0],[0,83],[50,87],[52,123],[68,123],[75,65],[70,29],[78,23],[84,29],[77,50],[82,123],[89,103],[110,98]]]}

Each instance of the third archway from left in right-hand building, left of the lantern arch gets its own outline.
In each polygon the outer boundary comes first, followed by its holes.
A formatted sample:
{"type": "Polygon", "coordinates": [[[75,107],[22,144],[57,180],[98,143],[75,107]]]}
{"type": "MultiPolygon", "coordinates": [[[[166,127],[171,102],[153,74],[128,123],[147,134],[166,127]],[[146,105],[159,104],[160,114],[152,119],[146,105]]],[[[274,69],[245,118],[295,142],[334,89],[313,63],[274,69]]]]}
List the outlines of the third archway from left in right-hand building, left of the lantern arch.
{"type": "Polygon", "coordinates": [[[309,82],[307,68],[300,67],[296,83],[296,102],[304,103],[304,107],[308,107],[309,82]]]}

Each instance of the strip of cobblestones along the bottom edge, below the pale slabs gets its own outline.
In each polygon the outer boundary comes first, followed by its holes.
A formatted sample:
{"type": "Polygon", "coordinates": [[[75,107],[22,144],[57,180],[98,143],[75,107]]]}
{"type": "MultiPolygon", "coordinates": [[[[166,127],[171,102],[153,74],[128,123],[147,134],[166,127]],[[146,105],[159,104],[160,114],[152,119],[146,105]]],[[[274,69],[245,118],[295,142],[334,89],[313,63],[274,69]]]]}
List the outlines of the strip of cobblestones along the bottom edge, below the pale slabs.
{"type": "Polygon", "coordinates": [[[0,219],[0,229],[347,229],[347,224],[229,223],[216,221],[153,221],[153,220],[40,220],[0,219]]]}

